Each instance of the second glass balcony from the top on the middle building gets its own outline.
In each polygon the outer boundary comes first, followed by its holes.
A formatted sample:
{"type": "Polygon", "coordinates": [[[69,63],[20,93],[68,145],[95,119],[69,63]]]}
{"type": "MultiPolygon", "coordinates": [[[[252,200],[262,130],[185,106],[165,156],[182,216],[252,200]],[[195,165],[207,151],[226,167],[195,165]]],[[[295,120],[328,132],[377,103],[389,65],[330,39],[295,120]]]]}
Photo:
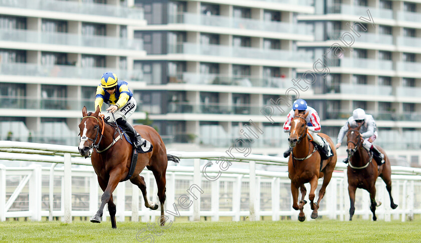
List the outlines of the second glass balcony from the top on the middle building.
{"type": "Polygon", "coordinates": [[[228,56],[252,59],[283,60],[297,62],[312,62],[312,54],[304,51],[289,51],[282,49],[261,49],[228,45],[200,45],[184,42],[169,44],[168,53],[183,53],[193,55],[228,56]]]}

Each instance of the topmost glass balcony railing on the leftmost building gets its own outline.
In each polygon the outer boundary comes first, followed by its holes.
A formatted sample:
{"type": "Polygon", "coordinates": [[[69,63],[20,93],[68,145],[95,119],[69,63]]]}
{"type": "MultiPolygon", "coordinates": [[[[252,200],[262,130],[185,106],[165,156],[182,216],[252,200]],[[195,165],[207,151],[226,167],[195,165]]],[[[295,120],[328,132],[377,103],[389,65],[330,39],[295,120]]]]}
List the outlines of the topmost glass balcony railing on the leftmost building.
{"type": "Polygon", "coordinates": [[[111,4],[82,3],[64,0],[0,0],[0,5],[3,7],[99,15],[104,17],[143,19],[142,8],[129,8],[111,4]]]}

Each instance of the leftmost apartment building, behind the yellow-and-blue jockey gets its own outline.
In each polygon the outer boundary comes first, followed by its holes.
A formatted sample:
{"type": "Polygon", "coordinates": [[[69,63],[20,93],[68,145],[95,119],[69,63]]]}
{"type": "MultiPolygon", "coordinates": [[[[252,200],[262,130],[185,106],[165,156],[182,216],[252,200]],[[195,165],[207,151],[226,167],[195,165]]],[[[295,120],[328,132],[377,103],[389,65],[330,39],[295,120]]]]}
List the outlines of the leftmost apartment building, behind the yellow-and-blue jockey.
{"type": "Polygon", "coordinates": [[[146,52],[132,30],[144,25],[133,1],[0,0],[1,139],[77,144],[103,72],[134,91],[145,85],[133,58],[146,52]]]}

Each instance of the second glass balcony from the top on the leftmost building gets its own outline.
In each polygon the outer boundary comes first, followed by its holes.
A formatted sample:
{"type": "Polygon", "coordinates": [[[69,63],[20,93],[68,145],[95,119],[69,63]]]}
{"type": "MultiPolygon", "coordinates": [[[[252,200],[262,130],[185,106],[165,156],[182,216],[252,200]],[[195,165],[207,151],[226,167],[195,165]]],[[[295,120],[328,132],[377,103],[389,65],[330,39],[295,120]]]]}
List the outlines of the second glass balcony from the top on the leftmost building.
{"type": "Polygon", "coordinates": [[[95,48],[143,50],[143,41],[141,39],[126,39],[100,35],[87,36],[72,33],[40,32],[20,29],[0,29],[0,40],[95,48]]]}

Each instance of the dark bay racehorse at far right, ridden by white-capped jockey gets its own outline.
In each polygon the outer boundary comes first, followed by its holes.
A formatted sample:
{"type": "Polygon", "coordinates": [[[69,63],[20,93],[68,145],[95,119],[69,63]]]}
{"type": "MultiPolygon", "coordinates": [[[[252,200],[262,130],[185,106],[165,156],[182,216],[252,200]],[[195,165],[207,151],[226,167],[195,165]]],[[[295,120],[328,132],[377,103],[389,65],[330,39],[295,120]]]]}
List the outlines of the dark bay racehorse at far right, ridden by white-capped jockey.
{"type": "Polygon", "coordinates": [[[348,153],[348,193],[349,200],[351,201],[351,206],[349,208],[349,220],[352,220],[352,216],[355,211],[355,190],[357,188],[363,188],[370,193],[370,209],[373,212],[373,220],[377,219],[375,211],[376,206],[379,206],[381,203],[377,203],[375,200],[376,195],[376,179],[380,176],[384,183],[386,183],[387,192],[389,192],[390,197],[390,207],[395,209],[397,204],[393,203],[392,198],[392,180],[390,175],[392,173],[390,169],[390,161],[387,157],[384,150],[376,146],[377,149],[384,154],[384,163],[377,167],[377,162],[374,158],[368,153],[362,145],[363,138],[359,132],[362,123],[356,128],[351,128],[348,124],[348,132],[346,133],[347,138],[347,149],[348,153]]]}

